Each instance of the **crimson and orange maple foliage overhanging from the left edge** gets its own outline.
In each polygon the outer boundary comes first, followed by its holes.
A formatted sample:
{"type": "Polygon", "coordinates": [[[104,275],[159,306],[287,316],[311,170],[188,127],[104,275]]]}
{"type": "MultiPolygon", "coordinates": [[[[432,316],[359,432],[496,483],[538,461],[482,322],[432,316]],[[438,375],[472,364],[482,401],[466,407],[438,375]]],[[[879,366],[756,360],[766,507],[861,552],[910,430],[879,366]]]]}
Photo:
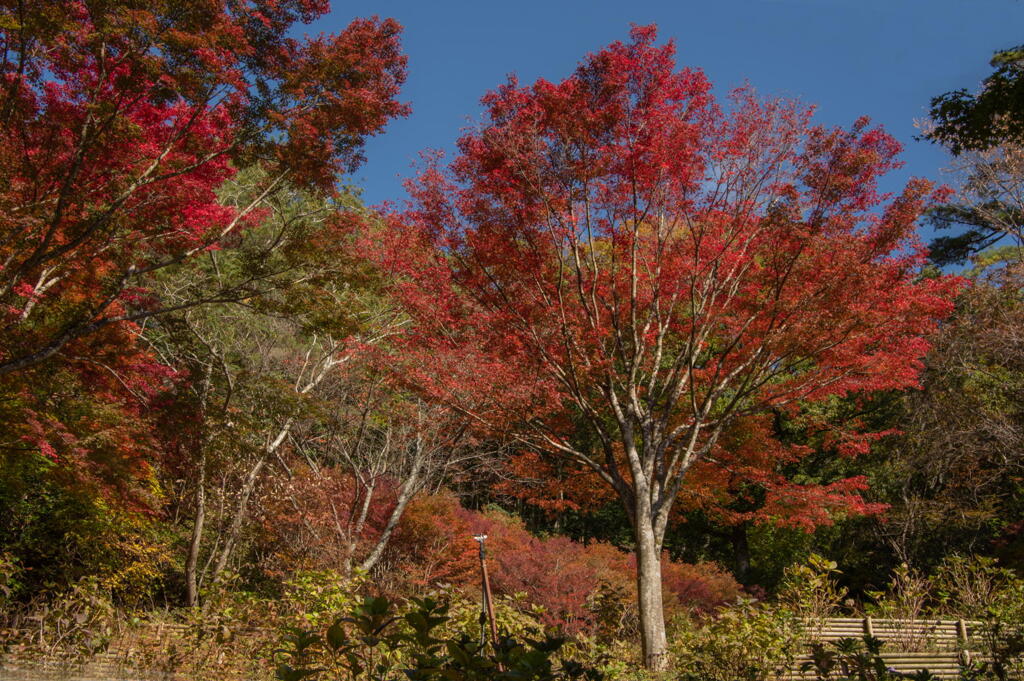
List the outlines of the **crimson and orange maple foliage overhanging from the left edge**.
{"type": "Polygon", "coordinates": [[[166,371],[138,325],[259,295],[268,273],[173,304],[152,278],[230,248],[286,185],[333,191],[366,137],[407,114],[395,99],[400,27],[374,17],[291,37],[327,10],[325,0],[0,0],[3,453],[68,463],[101,441],[108,462],[142,459],[139,419],[166,371]],[[245,199],[222,200],[250,166],[260,172],[245,199]]]}

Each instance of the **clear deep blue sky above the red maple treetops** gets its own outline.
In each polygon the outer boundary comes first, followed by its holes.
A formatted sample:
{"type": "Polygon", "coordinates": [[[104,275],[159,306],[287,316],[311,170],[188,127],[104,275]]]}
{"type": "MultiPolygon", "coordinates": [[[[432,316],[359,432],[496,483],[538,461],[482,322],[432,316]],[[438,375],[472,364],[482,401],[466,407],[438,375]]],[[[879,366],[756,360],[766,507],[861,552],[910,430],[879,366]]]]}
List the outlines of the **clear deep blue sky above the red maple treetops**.
{"type": "Polygon", "coordinates": [[[354,16],[404,27],[410,118],[370,141],[351,178],[370,204],[404,197],[401,177],[425,148],[449,152],[480,115],[479,98],[515,73],[560,80],[588,52],[627,38],[630,23],[675,38],[680,65],[698,67],[719,93],[749,81],[766,94],[818,105],[816,120],[867,115],[905,146],[910,175],[939,177],[943,151],[913,140],[930,98],[975,89],[992,52],[1024,43],[1024,0],[336,0],[312,32],[354,16]]]}

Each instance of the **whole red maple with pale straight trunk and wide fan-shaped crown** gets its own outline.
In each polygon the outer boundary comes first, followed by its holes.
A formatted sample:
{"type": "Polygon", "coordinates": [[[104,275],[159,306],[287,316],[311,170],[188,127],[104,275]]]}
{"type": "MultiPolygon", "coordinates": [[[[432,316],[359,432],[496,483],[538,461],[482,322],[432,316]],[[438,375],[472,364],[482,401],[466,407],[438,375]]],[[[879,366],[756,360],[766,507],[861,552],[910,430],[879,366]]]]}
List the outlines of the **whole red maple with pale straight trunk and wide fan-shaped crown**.
{"type": "Polygon", "coordinates": [[[959,287],[919,274],[930,184],[878,188],[891,136],[750,89],[722,105],[674,51],[635,28],[559,83],[511,79],[375,245],[415,322],[412,380],[621,500],[652,669],[694,467],[738,419],[915,386],[959,287]]]}

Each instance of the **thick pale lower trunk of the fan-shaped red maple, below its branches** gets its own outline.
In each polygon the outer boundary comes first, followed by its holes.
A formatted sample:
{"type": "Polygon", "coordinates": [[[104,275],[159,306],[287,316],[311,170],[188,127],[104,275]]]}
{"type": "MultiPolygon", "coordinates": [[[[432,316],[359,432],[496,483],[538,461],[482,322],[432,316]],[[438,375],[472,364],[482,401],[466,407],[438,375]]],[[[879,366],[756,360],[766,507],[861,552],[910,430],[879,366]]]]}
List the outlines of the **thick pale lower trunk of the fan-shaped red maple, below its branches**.
{"type": "Polygon", "coordinates": [[[654,531],[649,513],[638,513],[637,595],[640,606],[640,640],[644,666],[652,672],[665,671],[669,640],[665,632],[665,606],[662,598],[662,543],[654,531]]]}

